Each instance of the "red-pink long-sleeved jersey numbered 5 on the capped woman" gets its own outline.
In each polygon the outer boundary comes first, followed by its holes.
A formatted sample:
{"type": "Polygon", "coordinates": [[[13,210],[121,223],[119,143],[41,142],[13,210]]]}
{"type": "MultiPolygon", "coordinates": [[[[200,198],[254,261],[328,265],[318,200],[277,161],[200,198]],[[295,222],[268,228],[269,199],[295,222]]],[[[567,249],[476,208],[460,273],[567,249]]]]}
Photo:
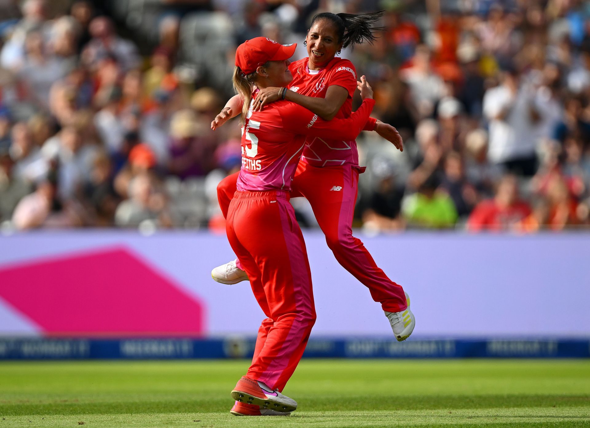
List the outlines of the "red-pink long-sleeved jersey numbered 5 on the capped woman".
{"type": "Polygon", "coordinates": [[[253,113],[242,128],[242,167],[237,189],[291,190],[291,180],[306,137],[353,141],[365,126],[375,101],[365,100],[352,116],[325,121],[290,101],[276,101],[253,113]]]}

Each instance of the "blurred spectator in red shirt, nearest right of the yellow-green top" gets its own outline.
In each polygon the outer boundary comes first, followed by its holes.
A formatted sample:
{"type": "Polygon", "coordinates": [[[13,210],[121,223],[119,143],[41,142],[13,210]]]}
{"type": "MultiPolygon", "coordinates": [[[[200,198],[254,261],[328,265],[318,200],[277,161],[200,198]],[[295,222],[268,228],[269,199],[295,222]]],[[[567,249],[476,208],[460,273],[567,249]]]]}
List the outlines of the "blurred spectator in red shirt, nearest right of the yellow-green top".
{"type": "Polygon", "coordinates": [[[478,231],[510,231],[531,213],[528,203],[519,199],[516,177],[504,176],[494,199],[478,203],[469,216],[468,229],[478,231]]]}

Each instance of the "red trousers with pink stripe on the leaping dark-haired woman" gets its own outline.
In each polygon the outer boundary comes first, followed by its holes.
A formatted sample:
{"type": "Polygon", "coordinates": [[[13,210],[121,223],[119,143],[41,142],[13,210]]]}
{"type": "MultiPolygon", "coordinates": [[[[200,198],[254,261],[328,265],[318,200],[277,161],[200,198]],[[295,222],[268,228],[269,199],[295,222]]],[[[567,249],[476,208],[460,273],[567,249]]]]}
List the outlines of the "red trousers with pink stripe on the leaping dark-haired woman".
{"type": "MultiPolygon", "coordinates": [[[[219,206],[227,209],[236,189],[238,173],[225,177],[217,186],[219,206]]],[[[404,289],[385,275],[360,239],[352,236],[352,219],[358,196],[359,170],[350,165],[314,167],[299,162],[291,182],[291,197],[309,200],[326,242],[336,260],[369,288],[384,311],[405,311],[404,289]]],[[[238,259],[241,258],[238,256],[238,259]]]]}

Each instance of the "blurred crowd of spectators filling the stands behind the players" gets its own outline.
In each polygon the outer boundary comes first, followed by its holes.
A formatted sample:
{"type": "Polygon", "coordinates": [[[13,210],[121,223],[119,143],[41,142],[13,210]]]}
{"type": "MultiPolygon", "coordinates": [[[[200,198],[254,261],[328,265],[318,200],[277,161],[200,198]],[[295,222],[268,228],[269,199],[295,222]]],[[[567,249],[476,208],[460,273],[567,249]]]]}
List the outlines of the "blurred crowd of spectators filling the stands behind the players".
{"type": "Polygon", "coordinates": [[[2,231],[223,231],[215,189],[240,168],[240,127],[209,124],[235,47],[264,35],[299,59],[318,10],[379,9],[381,37],[341,56],[405,148],[359,136],[355,225],[588,228],[587,2],[0,0],[2,231]]]}

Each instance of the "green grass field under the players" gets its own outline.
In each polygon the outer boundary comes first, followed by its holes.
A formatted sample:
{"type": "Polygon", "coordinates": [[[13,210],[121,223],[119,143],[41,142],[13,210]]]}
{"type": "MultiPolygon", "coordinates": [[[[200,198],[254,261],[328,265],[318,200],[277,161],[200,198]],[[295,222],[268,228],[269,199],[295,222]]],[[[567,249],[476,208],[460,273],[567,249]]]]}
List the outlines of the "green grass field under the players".
{"type": "Polygon", "coordinates": [[[0,363],[4,427],[590,427],[588,360],[303,360],[289,417],[235,417],[247,361],[0,363]]]}

